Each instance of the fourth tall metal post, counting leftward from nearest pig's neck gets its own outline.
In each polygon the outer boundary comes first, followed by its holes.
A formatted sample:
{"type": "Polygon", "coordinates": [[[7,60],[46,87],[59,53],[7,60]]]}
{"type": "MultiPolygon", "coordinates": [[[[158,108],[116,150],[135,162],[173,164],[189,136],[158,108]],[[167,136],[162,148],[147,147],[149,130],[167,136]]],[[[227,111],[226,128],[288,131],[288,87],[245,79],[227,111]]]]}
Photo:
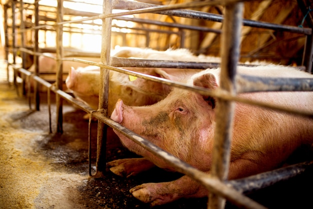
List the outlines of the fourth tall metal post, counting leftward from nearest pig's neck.
{"type": "MultiPolygon", "coordinates": [[[[39,25],[39,4],[38,1],[34,1],[34,19],[35,19],[35,26],[39,25]]],[[[39,29],[35,28],[34,29],[34,47],[33,51],[38,52],[38,31],[39,29]]],[[[33,63],[35,65],[35,75],[39,76],[39,56],[34,54],[33,55],[33,63]]],[[[34,96],[35,96],[35,108],[36,110],[39,110],[39,103],[40,103],[40,98],[39,98],[39,84],[38,82],[34,82],[34,96]]]]}

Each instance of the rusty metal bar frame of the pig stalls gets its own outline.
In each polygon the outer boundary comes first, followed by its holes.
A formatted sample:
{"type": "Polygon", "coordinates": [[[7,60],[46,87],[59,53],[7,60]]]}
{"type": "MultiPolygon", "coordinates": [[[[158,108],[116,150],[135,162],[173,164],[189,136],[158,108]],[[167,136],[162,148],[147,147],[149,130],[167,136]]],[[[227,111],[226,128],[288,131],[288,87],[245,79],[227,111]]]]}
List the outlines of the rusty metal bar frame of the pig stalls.
{"type": "MultiPolygon", "coordinates": [[[[305,10],[304,1],[298,0],[299,6],[305,10]]],[[[294,114],[306,115],[312,118],[312,112],[301,112],[295,109],[288,109],[283,106],[275,106],[269,103],[260,103],[255,102],[253,100],[246,100],[235,96],[236,93],[239,92],[249,92],[249,91],[273,91],[273,90],[312,90],[313,89],[313,80],[311,79],[284,79],[283,81],[280,79],[261,79],[258,77],[247,77],[242,75],[236,75],[235,70],[238,62],[239,56],[239,36],[241,25],[248,25],[254,27],[264,27],[269,29],[279,29],[283,31],[291,31],[297,33],[303,33],[306,35],[306,46],[305,51],[303,53],[303,65],[305,65],[305,69],[308,72],[311,72],[312,68],[312,55],[313,55],[313,44],[312,44],[312,30],[311,28],[302,28],[288,25],[280,25],[280,24],[272,24],[265,22],[252,21],[247,19],[242,19],[242,0],[212,0],[212,1],[196,1],[189,3],[179,3],[179,4],[171,4],[171,5],[153,5],[147,3],[139,3],[127,0],[103,0],[103,13],[95,16],[84,17],[77,20],[63,20],[63,0],[57,0],[57,8],[56,8],[56,23],[53,24],[56,28],[56,57],[52,57],[56,59],[57,63],[57,72],[55,76],[56,84],[53,85],[50,82],[42,79],[40,77],[40,72],[38,71],[38,56],[43,55],[38,47],[38,30],[44,28],[46,25],[39,25],[39,16],[38,16],[38,1],[34,2],[34,23],[35,26],[30,28],[25,28],[25,25],[22,20],[23,16],[23,8],[24,3],[22,0],[10,0],[4,5],[4,29],[5,29],[5,59],[8,60],[8,54],[11,52],[13,54],[13,61],[8,61],[7,68],[7,76],[9,77],[9,66],[14,69],[14,84],[16,84],[16,76],[17,73],[24,74],[23,76],[31,77],[35,80],[35,83],[41,83],[42,85],[47,87],[48,98],[50,91],[52,90],[56,94],[56,108],[57,108],[57,132],[62,132],[62,99],[66,99],[67,101],[78,105],[82,110],[87,113],[90,113],[89,118],[89,131],[90,130],[90,122],[91,117],[95,117],[98,119],[98,130],[97,130],[97,157],[96,157],[96,173],[94,176],[101,176],[103,172],[105,172],[105,133],[107,126],[111,126],[114,129],[122,132],[124,135],[140,144],[144,148],[153,152],[159,157],[162,157],[166,162],[170,163],[177,171],[184,173],[193,179],[202,183],[205,187],[208,188],[210,192],[208,208],[221,208],[223,207],[223,198],[226,198],[229,201],[232,201],[234,204],[237,204],[246,208],[263,208],[262,205],[259,205],[257,202],[247,198],[242,193],[247,191],[252,191],[258,188],[262,188],[265,186],[269,186],[274,182],[279,180],[285,180],[290,177],[295,176],[296,174],[304,172],[309,166],[312,166],[312,162],[303,162],[300,164],[291,165],[286,168],[280,168],[274,171],[261,173],[258,175],[250,176],[244,179],[239,180],[231,180],[227,181],[223,176],[227,173],[228,164],[229,164],[229,144],[230,144],[230,134],[229,128],[231,124],[231,103],[232,101],[244,102],[251,105],[260,105],[263,107],[273,108],[279,111],[287,111],[294,114]],[[207,5],[214,4],[225,4],[225,15],[215,15],[205,12],[199,12],[195,10],[189,10],[184,8],[189,7],[201,7],[207,5]],[[16,7],[16,5],[19,5],[16,7]],[[6,20],[8,19],[6,10],[8,8],[12,9],[12,25],[15,25],[15,9],[20,12],[20,30],[17,32],[15,27],[12,27],[11,33],[8,32],[8,25],[6,20]],[[127,9],[128,11],[112,13],[112,9],[127,9]],[[112,18],[116,19],[124,19],[124,20],[136,20],[137,22],[147,22],[150,24],[161,24],[160,22],[146,19],[129,19],[128,17],[122,17],[123,15],[128,14],[137,14],[137,13],[160,13],[166,15],[176,15],[176,16],[184,16],[189,18],[199,18],[206,19],[212,21],[224,21],[223,28],[221,31],[222,34],[222,42],[221,42],[221,51],[223,51],[221,56],[221,76],[220,87],[221,91],[211,92],[209,90],[204,90],[201,88],[191,87],[186,84],[170,81],[166,79],[158,79],[157,77],[140,74],[134,71],[122,69],[122,67],[129,66],[137,66],[137,67],[177,67],[177,68],[208,68],[216,66],[216,63],[199,63],[199,62],[177,62],[177,61],[157,61],[157,60],[142,60],[142,59],[127,59],[127,58],[119,58],[119,57],[111,57],[110,56],[110,47],[111,47],[111,21],[112,18]],[[99,107],[98,110],[94,110],[83,102],[75,99],[68,93],[62,90],[62,61],[68,60],[65,57],[65,53],[63,51],[62,45],[62,34],[63,34],[63,25],[70,22],[82,22],[87,20],[94,19],[102,19],[102,28],[101,28],[101,52],[100,52],[100,62],[92,62],[83,59],[73,58],[72,61],[87,63],[90,65],[96,65],[100,67],[100,91],[99,91],[99,107]],[[24,47],[23,36],[26,31],[32,30],[34,31],[34,47],[29,48],[24,47]],[[21,44],[16,44],[16,38],[20,35],[21,44]],[[9,44],[8,37],[11,37],[11,44],[9,44]],[[19,65],[15,62],[15,56],[17,51],[21,52],[22,56],[22,65],[19,65]],[[33,54],[34,55],[34,63],[35,63],[35,72],[31,73],[28,70],[24,69],[24,60],[25,54],[33,54]],[[213,164],[211,168],[211,174],[208,175],[204,172],[201,172],[185,162],[175,158],[171,154],[163,151],[159,147],[155,146],[151,142],[145,140],[139,135],[133,133],[132,131],[122,127],[117,122],[109,119],[107,114],[107,99],[108,99],[108,76],[109,70],[115,70],[118,72],[126,73],[129,75],[137,76],[140,78],[161,82],[167,85],[181,87],[188,90],[192,90],[203,95],[208,96],[216,96],[220,99],[220,102],[223,105],[223,110],[216,112],[216,118],[220,118],[216,121],[216,129],[218,129],[219,135],[216,135],[216,142],[213,149],[213,164]],[[238,83],[240,82],[240,85],[238,83]],[[256,84],[250,84],[251,82],[262,82],[265,85],[258,86],[256,84]],[[267,85],[269,84],[270,85],[267,85]],[[234,89],[236,86],[236,89],[234,89]],[[248,87],[247,87],[248,86],[248,87]],[[221,198],[222,197],[222,198],[221,198]]],[[[305,13],[305,12],[304,12],[305,13]]],[[[77,14],[78,15],[78,14],[77,14]]],[[[313,22],[311,18],[308,16],[306,20],[309,22],[310,27],[313,26],[313,22]]],[[[166,24],[163,23],[163,24],[166,24]]],[[[51,25],[48,25],[50,27],[51,25]]],[[[182,29],[195,29],[195,30],[207,30],[210,32],[220,32],[214,31],[213,29],[208,29],[206,27],[198,27],[191,25],[183,25],[183,24],[172,24],[171,26],[182,28],[182,29]]],[[[161,31],[159,31],[161,32],[161,31]]],[[[162,31],[164,32],[164,31],[162,31]]],[[[180,31],[180,46],[183,47],[183,32],[180,31]]],[[[146,44],[148,45],[148,38],[146,39],[146,44]]],[[[78,52],[80,55],[84,54],[83,52],[78,52]]],[[[85,55],[85,54],[84,54],[85,55]]],[[[29,85],[29,82],[27,83],[29,85]]],[[[38,87],[35,84],[35,108],[39,110],[39,94],[38,87]]],[[[31,108],[31,98],[30,98],[30,87],[27,88],[28,92],[28,101],[29,107],[31,108]]],[[[51,120],[51,116],[49,114],[49,120],[51,120]]],[[[51,130],[51,127],[50,127],[51,130]]],[[[89,134],[89,141],[90,141],[89,134]]],[[[91,152],[89,152],[89,159],[91,156],[91,152]]],[[[89,174],[91,175],[91,160],[89,160],[89,174]]]]}

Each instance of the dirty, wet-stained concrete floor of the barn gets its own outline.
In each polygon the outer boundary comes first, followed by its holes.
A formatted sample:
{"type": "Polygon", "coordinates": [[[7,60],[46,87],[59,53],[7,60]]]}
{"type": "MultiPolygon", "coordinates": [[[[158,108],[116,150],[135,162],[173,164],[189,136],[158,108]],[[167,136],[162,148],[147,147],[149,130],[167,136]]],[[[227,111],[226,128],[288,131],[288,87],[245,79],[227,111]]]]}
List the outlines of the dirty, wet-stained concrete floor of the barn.
{"type": "MultiPolygon", "coordinates": [[[[53,97],[52,94],[52,100],[53,97]]],[[[18,96],[14,86],[0,82],[0,208],[150,208],[128,190],[144,182],[171,180],[180,175],[155,168],[131,178],[109,171],[103,178],[89,177],[84,112],[64,101],[64,132],[58,134],[52,105],[49,133],[46,95],[41,94],[40,99],[39,111],[33,110],[33,103],[29,109],[27,99],[18,96]]],[[[92,123],[91,138],[94,172],[96,122],[92,123]]],[[[107,139],[106,155],[107,160],[135,156],[114,135],[107,139]]],[[[311,173],[250,196],[270,208],[312,208],[311,173]]],[[[206,208],[206,201],[207,198],[180,199],[154,208],[206,208]]],[[[227,202],[226,208],[235,207],[227,202]]]]}

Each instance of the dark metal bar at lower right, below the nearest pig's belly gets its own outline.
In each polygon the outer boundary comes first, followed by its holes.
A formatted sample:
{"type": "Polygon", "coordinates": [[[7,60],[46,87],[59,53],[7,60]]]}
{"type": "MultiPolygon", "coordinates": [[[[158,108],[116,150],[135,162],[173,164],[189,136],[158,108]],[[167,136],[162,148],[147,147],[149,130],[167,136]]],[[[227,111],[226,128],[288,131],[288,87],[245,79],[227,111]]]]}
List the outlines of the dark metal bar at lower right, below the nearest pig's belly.
{"type": "Polygon", "coordinates": [[[273,185],[276,182],[288,180],[291,177],[304,173],[308,169],[313,168],[313,161],[302,162],[294,165],[289,165],[268,172],[251,175],[245,178],[229,180],[226,184],[234,187],[242,193],[251,193],[260,188],[273,185]]]}

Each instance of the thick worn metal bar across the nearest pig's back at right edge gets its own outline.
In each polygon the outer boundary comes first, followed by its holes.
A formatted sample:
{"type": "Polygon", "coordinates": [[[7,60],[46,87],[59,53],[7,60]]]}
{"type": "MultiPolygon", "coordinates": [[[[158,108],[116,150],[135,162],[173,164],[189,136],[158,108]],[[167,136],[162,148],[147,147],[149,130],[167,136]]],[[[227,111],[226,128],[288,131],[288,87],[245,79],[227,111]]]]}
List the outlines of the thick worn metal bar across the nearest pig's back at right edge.
{"type": "Polygon", "coordinates": [[[236,91],[312,91],[313,78],[258,77],[236,74],[236,91]]]}

